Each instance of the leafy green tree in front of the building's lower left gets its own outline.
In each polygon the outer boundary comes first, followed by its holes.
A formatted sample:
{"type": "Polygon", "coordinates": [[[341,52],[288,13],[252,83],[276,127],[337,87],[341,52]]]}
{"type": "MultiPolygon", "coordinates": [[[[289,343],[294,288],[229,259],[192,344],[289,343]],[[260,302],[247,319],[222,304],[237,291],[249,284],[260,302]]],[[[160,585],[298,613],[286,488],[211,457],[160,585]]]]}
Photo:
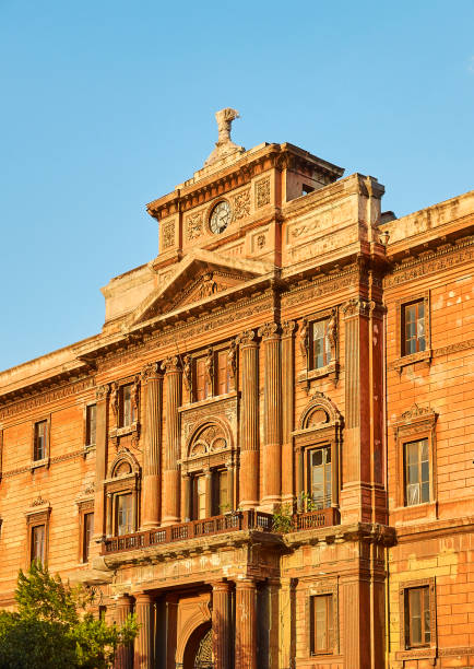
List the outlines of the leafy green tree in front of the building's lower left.
{"type": "Polygon", "coordinates": [[[138,634],[133,615],[120,627],[94,618],[91,592],[37,562],[20,570],[15,599],[17,611],[0,612],[0,669],[106,669],[138,634]]]}

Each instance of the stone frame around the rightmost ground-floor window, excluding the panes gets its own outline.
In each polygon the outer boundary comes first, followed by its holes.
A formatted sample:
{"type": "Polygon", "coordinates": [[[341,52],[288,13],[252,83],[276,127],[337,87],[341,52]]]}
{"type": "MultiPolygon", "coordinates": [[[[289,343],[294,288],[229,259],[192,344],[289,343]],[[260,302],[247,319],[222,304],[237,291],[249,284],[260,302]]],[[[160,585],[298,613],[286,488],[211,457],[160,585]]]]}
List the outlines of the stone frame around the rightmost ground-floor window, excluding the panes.
{"type": "Polygon", "coordinates": [[[407,580],[400,584],[399,589],[399,607],[400,607],[400,648],[396,653],[396,659],[417,659],[436,657],[437,654],[437,615],[436,615],[436,577],[418,578],[407,580]],[[410,634],[410,610],[407,611],[406,599],[407,592],[416,588],[428,588],[428,607],[430,618],[430,641],[423,645],[411,645],[407,638],[407,629],[410,634]],[[407,621],[408,618],[408,621],[407,621]],[[407,625],[408,622],[408,625],[407,625]]]}

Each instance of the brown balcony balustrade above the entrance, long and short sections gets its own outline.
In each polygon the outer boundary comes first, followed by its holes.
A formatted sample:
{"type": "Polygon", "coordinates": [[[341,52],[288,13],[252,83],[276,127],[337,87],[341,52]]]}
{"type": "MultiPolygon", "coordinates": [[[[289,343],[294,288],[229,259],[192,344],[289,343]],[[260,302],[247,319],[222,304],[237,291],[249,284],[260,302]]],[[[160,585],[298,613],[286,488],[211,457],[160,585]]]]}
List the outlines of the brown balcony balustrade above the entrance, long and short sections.
{"type": "MultiPolygon", "coordinates": [[[[295,514],[289,518],[291,528],[288,531],[310,530],[339,524],[339,512],[335,508],[324,508],[321,510],[295,514]]],[[[257,530],[272,532],[273,515],[262,512],[246,510],[213,516],[202,520],[190,520],[179,525],[169,525],[144,532],[123,535],[123,537],[109,537],[103,544],[103,555],[111,555],[125,551],[146,549],[170,544],[177,541],[188,541],[190,539],[205,538],[227,532],[238,532],[241,530],[257,530]]]]}

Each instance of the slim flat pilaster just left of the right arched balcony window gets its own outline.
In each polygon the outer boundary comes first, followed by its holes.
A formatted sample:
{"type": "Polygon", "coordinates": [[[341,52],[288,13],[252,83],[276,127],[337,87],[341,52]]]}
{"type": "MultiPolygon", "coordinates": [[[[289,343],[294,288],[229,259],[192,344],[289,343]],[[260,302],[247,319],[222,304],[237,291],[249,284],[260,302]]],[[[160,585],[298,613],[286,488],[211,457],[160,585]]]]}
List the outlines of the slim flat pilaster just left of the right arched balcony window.
{"type": "Polygon", "coordinates": [[[295,500],[293,437],[295,413],[295,347],[296,324],[282,324],[282,501],[293,504],[295,500]]]}

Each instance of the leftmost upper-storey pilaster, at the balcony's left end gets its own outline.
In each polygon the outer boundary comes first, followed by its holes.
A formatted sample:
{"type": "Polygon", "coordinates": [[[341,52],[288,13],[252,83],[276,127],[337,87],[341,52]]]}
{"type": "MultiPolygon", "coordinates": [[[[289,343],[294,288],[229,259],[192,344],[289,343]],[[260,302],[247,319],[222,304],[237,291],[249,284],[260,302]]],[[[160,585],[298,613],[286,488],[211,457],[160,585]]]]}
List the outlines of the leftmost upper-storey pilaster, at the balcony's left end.
{"type": "Polygon", "coordinates": [[[100,542],[106,531],[106,504],[104,481],[107,478],[107,399],[109,386],[96,389],[96,437],[95,437],[95,501],[94,501],[94,538],[91,544],[91,556],[100,552],[100,542]]]}

